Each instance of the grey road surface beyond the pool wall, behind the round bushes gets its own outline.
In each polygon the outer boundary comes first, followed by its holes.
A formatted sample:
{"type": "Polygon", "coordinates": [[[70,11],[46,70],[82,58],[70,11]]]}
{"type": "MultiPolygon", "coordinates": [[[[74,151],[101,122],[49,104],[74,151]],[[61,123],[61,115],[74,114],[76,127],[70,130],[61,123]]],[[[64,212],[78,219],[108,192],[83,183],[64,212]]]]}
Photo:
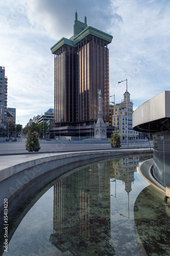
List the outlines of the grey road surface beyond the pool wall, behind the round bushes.
{"type": "MultiPolygon", "coordinates": [[[[153,144],[151,143],[151,146],[153,144]]],[[[39,152],[68,152],[68,151],[84,151],[84,150],[110,150],[110,143],[52,143],[51,141],[40,141],[39,152]]],[[[150,147],[149,142],[135,142],[136,148],[150,147]]],[[[127,143],[122,143],[121,148],[127,148],[127,143]]],[[[134,148],[134,142],[129,143],[129,148],[134,148]]],[[[18,138],[15,142],[0,143],[0,154],[9,153],[28,153],[26,150],[26,138],[18,138]]]]}

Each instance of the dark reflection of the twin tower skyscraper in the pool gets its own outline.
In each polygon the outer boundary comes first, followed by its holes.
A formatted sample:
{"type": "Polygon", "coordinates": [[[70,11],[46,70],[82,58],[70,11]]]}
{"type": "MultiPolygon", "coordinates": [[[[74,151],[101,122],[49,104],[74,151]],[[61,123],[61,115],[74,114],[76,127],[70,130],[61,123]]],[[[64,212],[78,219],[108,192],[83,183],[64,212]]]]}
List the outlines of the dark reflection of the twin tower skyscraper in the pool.
{"type": "Polygon", "coordinates": [[[54,233],[50,241],[74,255],[113,255],[108,162],[79,169],[54,185],[54,233]]]}

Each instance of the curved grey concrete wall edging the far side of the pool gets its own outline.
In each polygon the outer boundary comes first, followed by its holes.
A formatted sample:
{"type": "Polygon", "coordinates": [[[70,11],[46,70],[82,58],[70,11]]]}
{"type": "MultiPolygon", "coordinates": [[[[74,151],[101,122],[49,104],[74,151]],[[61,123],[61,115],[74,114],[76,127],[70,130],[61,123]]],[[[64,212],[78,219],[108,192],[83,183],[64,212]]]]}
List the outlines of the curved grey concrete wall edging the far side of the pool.
{"type": "Polygon", "coordinates": [[[77,166],[81,166],[87,162],[98,161],[110,157],[144,154],[146,152],[151,153],[150,150],[110,150],[102,152],[89,151],[51,155],[45,154],[45,156],[39,156],[39,158],[32,160],[30,160],[31,157],[29,160],[26,158],[25,161],[22,161],[21,163],[15,165],[11,164],[11,166],[0,170],[0,207],[4,204],[5,198],[11,198],[22,186],[53,169],[58,168],[59,175],[63,175],[66,172],[64,166],[72,163],[79,162],[79,165],[77,166]]]}

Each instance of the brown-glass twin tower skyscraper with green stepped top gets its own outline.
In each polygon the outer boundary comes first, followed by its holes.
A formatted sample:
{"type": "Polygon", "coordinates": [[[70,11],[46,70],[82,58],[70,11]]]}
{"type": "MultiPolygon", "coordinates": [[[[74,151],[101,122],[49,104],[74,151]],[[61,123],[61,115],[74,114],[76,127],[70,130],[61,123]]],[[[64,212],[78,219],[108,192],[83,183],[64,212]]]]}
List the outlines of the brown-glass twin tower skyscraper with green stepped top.
{"type": "Polygon", "coordinates": [[[78,20],[74,35],[61,38],[52,48],[55,55],[55,123],[76,125],[98,119],[98,89],[102,111],[109,119],[109,50],[112,36],[78,20]]]}

